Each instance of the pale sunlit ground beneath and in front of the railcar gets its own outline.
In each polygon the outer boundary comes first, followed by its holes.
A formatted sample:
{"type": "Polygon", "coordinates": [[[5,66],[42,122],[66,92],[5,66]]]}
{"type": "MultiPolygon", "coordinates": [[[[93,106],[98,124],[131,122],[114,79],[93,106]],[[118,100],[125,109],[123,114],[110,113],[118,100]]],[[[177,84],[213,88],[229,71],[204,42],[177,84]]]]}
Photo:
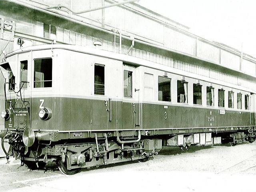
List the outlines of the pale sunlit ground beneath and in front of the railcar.
{"type": "Polygon", "coordinates": [[[0,159],[1,192],[256,191],[256,142],[234,147],[193,146],[184,152],[178,147],[164,147],[148,162],[84,169],[73,176],[64,176],[51,167],[30,171],[13,159],[5,163],[0,159]]]}

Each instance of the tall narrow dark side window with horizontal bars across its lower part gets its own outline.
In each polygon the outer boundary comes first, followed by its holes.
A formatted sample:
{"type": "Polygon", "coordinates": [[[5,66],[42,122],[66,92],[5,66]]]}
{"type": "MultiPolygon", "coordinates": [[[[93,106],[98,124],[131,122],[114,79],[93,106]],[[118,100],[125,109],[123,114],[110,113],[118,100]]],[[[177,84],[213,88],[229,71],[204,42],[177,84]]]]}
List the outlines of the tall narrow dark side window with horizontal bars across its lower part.
{"type": "Polygon", "coordinates": [[[94,94],[105,94],[105,66],[100,64],[94,65],[94,94]]]}

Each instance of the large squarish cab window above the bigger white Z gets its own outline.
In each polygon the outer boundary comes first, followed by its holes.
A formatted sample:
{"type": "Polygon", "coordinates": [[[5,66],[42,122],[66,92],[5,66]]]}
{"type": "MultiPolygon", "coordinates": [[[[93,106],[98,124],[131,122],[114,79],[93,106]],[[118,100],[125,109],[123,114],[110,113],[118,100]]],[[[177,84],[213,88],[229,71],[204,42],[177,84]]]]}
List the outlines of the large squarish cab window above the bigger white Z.
{"type": "Polygon", "coordinates": [[[52,58],[34,60],[34,88],[52,87],[52,58]]]}

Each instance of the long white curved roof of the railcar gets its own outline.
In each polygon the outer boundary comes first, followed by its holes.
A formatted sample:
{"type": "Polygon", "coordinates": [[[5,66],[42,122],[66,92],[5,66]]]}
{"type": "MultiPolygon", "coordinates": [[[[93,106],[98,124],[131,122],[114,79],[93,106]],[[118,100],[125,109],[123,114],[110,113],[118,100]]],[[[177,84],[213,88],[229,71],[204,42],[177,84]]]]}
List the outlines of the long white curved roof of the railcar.
{"type": "MultiPolygon", "coordinates": [[[[191,72],[186,72],[184,70],[180,70],[180,69],[177,69],[177,68],[172,68],[170,66],[165,66],[163,64],[158,64],[158,63],[155,63],[155,62],[151,62],[151,61],[148,61],[148,60],[144,60],[144,59],[137,58],[137,57],[130,56],[130,55],[126,55],[126,54],[119,54],[119,53],[114,53],[114,52],[101,50],[101,49],[97,49],[97,48],[91,48],[90,46],[84,47],[84,46],[68,45],[68,44],[36,45],[36,46],[29,46],[29,47],[26,47],[26,48],[22,48],[22,50],[21,49],[16,50],[12,53],[7,54],[6,57],[8,58],[8,57],[10,57],[14,54],[27,52],[27,51],[47,50],[47,49],[64,49],[64,50],[70,50],[70,51],[76,51],[76,52],[91,54],[91,55],[95,55],[95,56],[102,56],[104,58],[110,58],[110,59],[115,59],[115,60],[120,60],[122,62],[130,63],[130,64],[133,64],[135,66],[146,66],[146,67],[154,68],[154,69],[157,69],[157,70],[162,70],[162,71],[165,71],[165,72],[170,72],[170,73],[174,73],[174,74],[178,74],[178,75],[182,75],[182,76],[186,76],[186,77],[190,77],[190,78],[203,80],[203,81],[206,81],[206,82],[214,82],[214,84],[228,86],[228,87],[236,88],[238,90],[244,90],[244,91],[247,91],[247,92],[256,93],[256,90],[251,90],[249,88],[244,88],[242,86],[238,86],[238,85],[235,85],[235,84],[230,84],[228,82],[223,82],[221,80],[216,80],[216,79],[212,79],[212,78],[209,78],[209,77],[206,77],[206,76],[194,74],[194,73],[191,73],[191,72]]],[[[240,73],[245,74],[245,73],[242,73],[242,72],[240,72],[240,73]]]]}

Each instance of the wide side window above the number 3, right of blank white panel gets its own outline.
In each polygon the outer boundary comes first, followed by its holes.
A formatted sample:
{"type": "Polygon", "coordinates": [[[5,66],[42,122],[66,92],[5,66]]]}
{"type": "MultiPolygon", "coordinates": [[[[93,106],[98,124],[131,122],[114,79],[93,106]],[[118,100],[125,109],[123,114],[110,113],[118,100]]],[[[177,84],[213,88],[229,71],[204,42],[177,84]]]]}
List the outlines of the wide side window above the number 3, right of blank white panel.
{"type": "Polygon", "coordinates": [[[171,79],[158,76],[158,100],[171,102],[171,79]]]}

